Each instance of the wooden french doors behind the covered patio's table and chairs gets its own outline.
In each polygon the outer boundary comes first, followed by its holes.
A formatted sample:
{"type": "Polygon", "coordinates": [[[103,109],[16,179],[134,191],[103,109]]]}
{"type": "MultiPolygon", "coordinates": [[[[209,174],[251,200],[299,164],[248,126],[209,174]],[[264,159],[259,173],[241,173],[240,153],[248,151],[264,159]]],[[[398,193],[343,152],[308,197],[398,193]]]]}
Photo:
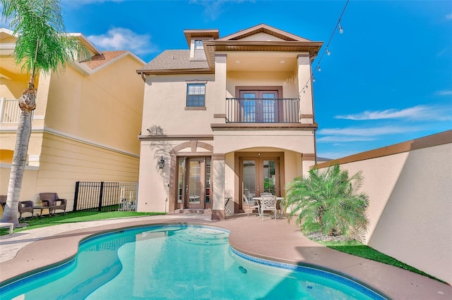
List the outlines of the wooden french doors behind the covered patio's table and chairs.
{"type": "Polygon", "coordinates": [[[247,197],[260,196],[270,192],[280,196],[280,166],[278,157],[240,158],[240,175],[243,182],[242,194],[247,197]]]}

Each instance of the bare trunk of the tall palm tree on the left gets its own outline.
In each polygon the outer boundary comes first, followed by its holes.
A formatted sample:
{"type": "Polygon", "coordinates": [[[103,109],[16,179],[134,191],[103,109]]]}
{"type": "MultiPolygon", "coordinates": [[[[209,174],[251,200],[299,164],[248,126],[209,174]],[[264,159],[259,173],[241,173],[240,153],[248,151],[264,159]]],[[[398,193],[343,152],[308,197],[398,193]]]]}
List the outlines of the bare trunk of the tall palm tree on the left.
{"type": "Polygon", "coordinates": [[[19,225],[18,204],[25,163],[27,161],[28,142],[31,135],[31,113],[36,108],[35,99],[36,91],[31,84],[28,89],[25,89],[19,99],[21,113],[17,127],[16,148],[14,149],[13,162],[11,163],[6,206],[0,220],[0,222],[14,223],[15,227],[19,225]]]}

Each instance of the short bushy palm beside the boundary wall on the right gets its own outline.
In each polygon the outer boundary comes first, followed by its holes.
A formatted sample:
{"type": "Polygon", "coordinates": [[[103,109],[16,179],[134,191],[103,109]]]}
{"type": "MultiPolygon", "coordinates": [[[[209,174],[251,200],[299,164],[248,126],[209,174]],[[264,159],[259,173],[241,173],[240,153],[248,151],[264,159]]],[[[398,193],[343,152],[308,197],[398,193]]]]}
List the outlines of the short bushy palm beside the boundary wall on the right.
{"type": "Polygon", "coordinates": [[[285,208],[302,232],[321,230],[323,235],[344,235],[362,239],[369,220],[369,197],[357,190],[361,172],[349,177],[347,170],[333,165],[327,170],[314,168],[309,177],[297,177],[287,186],[285,208]]]}

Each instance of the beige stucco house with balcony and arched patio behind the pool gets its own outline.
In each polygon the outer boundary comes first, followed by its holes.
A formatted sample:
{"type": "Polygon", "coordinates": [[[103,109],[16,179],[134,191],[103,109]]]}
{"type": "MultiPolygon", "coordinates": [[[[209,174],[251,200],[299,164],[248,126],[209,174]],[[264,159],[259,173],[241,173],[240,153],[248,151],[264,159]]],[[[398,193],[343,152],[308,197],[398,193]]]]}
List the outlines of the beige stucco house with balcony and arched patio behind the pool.
{"type": "Polygon", "coordinates": [[[311,63],[322,42],[257,25],[219,38],[184,30],[145,80],[138,211],[210,209],[285,193],[316,161],[311,63]]]}

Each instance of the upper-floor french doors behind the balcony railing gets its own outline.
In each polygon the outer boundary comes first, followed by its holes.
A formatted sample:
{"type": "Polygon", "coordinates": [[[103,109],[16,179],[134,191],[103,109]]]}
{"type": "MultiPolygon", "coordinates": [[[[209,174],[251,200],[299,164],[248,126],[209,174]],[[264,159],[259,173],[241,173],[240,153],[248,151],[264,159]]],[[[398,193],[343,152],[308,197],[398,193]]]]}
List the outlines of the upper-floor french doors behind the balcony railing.
{"type": "Polygon", "coordinates": [[[278,90],[240,91],[242,120],[245,123],[278,123],[278,90]]]}

